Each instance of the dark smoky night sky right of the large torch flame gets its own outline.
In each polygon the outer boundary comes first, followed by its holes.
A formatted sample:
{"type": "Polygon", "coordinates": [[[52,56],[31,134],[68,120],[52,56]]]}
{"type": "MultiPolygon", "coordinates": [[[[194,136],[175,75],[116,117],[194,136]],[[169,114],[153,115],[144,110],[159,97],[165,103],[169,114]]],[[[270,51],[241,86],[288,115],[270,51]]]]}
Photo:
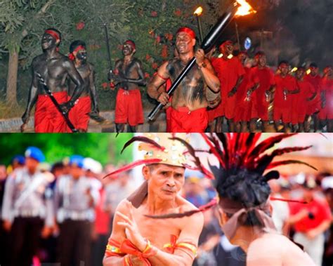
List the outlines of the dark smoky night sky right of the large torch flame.
{"type": "MultiPolygon", "coordinates": [[[[241,39],[255,30],[273,32],[263,46],[271,62],[315,61],[321,68],[333,64],[333,0],[248,1],[258,13],[237,19],[241,39]]],[[[230,31],[235,32],[234,25],[230,31]]]]}

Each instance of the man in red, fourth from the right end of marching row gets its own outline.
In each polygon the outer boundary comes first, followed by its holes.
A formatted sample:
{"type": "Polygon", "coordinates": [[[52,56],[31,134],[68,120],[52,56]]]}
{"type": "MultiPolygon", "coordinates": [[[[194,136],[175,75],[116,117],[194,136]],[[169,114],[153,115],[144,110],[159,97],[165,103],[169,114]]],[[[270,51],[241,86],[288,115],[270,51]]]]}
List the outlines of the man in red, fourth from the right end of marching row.
{"type": "Polygon", "coordinates": [[[292,122],[292,112],[296,110],[292,107],[292,94],[299,93],[296,79],[289,74],[289,64],[287,61],[281,61],[279,64],[280,73],[274,77],[274,113],[273,120],[275,130],[279,131],[280,120],[283,124],[283,130],[289,131],[289,124],[292,122]]]}

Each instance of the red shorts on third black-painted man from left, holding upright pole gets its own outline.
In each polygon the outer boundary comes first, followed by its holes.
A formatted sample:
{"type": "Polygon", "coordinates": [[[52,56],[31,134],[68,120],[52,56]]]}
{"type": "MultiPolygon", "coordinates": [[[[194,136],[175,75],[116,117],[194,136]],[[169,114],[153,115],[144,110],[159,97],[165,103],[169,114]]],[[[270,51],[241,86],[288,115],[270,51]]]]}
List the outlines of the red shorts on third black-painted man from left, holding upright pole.
{"type": "Polygon", "coordinates": [[[119,88],[115,110],[116,124],[136,126],[143,124],[143,108],[139,89],[125,91],[119,88]]]}

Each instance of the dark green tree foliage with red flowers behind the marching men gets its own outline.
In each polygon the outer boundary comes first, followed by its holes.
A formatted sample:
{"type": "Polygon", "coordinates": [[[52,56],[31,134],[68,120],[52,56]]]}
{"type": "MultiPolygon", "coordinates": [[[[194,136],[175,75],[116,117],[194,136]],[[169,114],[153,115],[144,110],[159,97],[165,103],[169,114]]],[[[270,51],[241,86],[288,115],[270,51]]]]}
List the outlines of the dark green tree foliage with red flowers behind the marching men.
{"type": "MultiPolygon", "coordinates": [[[[18,92],[27,95],[31,77],[24,70],[42,52],[40,40],[44,29],[55,27],[62,32],[61,53],[67,54],[75,39],[86,41],[89,61],[96,69],[102,109],[112,109],[115,98],[107,84],[104,23],[109,30],[112,62],[122,57],[123,41],[133,39],[136,57],[143,62],[148,79],[163,61],[173,56],[173,37],[178,27],[192,27],[197,32],[192,13],[198,2],[190,0],[4,0],[0,5],[0,53],[20,51],[18,92]]],[[[218,17],[218,0],[204,1],[202,6],[203,29],[207,33],[218,17]]]]}

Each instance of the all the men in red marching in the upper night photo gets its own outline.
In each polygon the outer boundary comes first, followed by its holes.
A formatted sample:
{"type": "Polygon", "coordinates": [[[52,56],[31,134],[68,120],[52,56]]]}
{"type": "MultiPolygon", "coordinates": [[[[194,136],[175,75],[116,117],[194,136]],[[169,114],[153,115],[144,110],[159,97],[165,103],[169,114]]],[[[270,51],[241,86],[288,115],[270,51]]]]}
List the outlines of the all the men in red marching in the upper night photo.
{"type": "MultiPolygon", "coordinates": [[[[281,61],[274,73],[263,51],[249,58],[246,51],[234,51],[232,41],[223,41],[217,53],[213,48],[205,54],[195,49],[192,29],[181,27],[175,36],[174,58],[164,62],[149,81],[135,57],[135,42],[124,42],[124,56],[108,75],[111,88],[117,88],[117,132],[124,132],[126,124],[128,131],[135,132],[145,120],[139,86],[147,86],[150,98],[164,105],[166,132],[332,132],[332,65],[320,74],[314,62],[292,69],[281,61]],[[195,64],[173,95],[168,95],[192,58],[195,64]]],[[[41,39],[43,53],[32,62],[33,82],[21,131],[35,104],[37,133],[86,132],[90,118],[105,121],[99,115],[86,44],[73,41],[65,56],[58,52],[60,42],[57,29],[46,29],[41,39]]]]}

